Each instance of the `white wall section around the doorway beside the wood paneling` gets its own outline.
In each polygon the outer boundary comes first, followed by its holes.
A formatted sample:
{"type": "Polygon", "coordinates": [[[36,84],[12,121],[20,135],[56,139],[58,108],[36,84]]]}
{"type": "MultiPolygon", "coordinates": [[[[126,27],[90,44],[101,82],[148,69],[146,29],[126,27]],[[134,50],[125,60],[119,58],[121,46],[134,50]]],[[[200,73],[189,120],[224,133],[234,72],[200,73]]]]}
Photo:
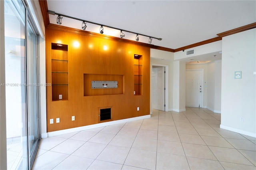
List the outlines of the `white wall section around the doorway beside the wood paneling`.
{"type": "MultiPolygon", "coordinates": [[[[173,108],[173,57],[174,53],[150,49],[150,65],[168,65],[168,111],[173,108]]],[[[150,112],[152,111],[152,67],[150,67],[150,112]]]]}

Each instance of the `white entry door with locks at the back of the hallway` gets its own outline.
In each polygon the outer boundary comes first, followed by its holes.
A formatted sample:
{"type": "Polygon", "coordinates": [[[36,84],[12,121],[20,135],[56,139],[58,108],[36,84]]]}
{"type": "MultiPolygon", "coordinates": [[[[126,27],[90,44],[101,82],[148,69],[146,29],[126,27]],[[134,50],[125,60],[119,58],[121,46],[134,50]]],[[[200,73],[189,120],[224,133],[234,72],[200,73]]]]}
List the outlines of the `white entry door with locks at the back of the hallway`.
{"type": "Polygon", "coordinates": [[[202,107],[203,71],[186,70],[186,107],[202,107]]]}

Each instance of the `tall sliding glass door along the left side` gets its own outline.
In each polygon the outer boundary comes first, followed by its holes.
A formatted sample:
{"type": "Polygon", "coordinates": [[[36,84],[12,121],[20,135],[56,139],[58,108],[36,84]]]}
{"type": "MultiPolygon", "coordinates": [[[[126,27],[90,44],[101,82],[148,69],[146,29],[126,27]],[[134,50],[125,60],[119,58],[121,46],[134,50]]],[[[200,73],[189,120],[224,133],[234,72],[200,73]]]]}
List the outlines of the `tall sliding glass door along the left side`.
{"type": "Polygon", "coordinates": [[[5,0],[7,168],[30,169],[40,141],[38,36],[22,0],[5,0]]]}

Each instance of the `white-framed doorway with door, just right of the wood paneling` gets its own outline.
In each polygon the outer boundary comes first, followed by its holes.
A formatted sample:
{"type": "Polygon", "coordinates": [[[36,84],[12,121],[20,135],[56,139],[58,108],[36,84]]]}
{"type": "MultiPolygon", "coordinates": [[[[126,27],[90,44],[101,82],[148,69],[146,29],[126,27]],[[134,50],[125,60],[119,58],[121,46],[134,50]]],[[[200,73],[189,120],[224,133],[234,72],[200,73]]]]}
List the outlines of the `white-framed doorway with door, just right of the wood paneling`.
{"type": "Polygon", "coordinates": [[[152,65],[152,109],[168,111],[168,65],[152,65]]]}

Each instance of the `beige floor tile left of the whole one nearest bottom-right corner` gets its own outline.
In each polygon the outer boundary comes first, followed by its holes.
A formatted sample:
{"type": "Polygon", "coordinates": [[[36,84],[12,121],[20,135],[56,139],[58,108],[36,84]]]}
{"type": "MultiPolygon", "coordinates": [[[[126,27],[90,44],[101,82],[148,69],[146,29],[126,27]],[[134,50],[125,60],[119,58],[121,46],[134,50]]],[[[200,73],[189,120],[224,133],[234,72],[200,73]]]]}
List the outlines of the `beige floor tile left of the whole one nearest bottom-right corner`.
{"type": "Polygon", "coordinates": [[[208,148],[208,146],[188,143],[182,143],[182,146],[184,148],[186,156],[217,160],[214,154],[212,154],[211,150],[208,148]]]}

